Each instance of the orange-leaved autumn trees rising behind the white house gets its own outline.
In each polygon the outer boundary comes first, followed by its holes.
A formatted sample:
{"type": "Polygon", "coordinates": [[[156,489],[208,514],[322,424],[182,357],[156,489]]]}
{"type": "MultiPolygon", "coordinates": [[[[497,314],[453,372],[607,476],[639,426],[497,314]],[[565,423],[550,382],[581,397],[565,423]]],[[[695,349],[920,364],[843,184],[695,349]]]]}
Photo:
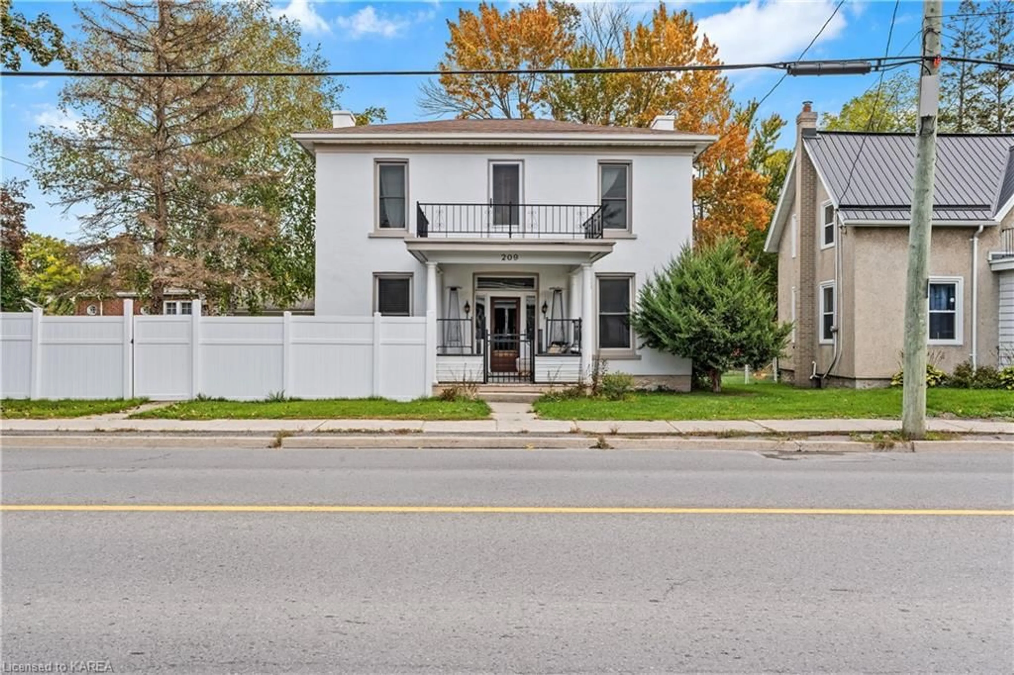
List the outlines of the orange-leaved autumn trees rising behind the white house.
{"type": "MultiPolygon", "coordinates": [[[[582,32],[575,18],[578,14],[573,5],[545,2],[521,5],[507,14],[485,4],[478,15],[461,10],[457,23],[448,21],[450,40],[440,68],[721,63],[718,48],[699,34],[686,10],[669,12],[659,3],[646,22],[632,26],[627,21],[600,21],[599,27],[605,25],[611,31],[604,35],[601,30],[582,32]],[[522,14],[529,17],[528,23],[520,20],[522,14]],[[530,24],[541,26],[542,31],[522,28],[530,24]],[[557,36],[555,42],[544,42],[551,33],[557,36]]],[[[743,238],[753,229],[765,228],[771,219],[773,207],[765,199],[769,178],[758,170],[756,153],[751,155],[756,142],[752,116],[736,108],[732,86],[720,71],[445,75],[424,87],[424,96],[427,111],[453,113],[459,118],[552,117],[583,124],[647,127],[658,115],[672,115],[680,131],[719,137],[698,159],[695,239],[743,238]]],[[[782,124],[773,116],[759,126],[780,128],[782,124]]]]}

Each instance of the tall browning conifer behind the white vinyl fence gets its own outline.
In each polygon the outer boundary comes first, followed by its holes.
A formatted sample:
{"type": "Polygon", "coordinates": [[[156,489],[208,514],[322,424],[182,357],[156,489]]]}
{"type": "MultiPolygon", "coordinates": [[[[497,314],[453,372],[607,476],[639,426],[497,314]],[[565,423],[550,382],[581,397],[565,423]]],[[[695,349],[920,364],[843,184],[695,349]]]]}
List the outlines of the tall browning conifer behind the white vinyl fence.
{"type": "Polygon", "coordinates": [[[267,283],[277,233],[271,214],[240,199],[272,174],[235,171],[222,151],[257,138],[256,88],[215,75],[239,70],[250,46],[230,39],[228,14],[210,0],[98,6],[78,10],[83,69],[206,74],[71,81],[61,105],[82,122],[34,135],[35,178],[66,207],[89,205],[84,250],[115,260],[152,311],[173,287],[234,306],[267,283]]]}

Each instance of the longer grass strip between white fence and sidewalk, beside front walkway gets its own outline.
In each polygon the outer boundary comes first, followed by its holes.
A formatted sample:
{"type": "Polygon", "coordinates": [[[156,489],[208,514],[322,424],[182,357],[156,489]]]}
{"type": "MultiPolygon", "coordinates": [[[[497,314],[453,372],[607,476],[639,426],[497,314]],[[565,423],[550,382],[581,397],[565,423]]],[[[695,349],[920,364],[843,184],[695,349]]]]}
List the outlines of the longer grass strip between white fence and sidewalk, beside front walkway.
{"type": "Polygon", "coordinates": [[[162,420],[483,420],[482,400],[419,398],[335,398],[321,400],[188,400],[139,413],[135,419],[162,420]]]}

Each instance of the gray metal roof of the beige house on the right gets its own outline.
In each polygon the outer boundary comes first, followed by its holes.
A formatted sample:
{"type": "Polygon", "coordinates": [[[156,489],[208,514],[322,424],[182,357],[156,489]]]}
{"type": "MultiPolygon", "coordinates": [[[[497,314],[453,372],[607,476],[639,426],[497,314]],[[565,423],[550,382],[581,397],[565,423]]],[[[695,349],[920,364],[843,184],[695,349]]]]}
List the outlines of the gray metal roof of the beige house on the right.
{"type": "MultiPolygon", "coordinates": [[[[817,132],[803,142],[845,220],[911,220],[912,134],[817,132]]],[[[1012,147],[1014,134],[940,134],[933,219],[989,220],[1002,189],[1014,191],[1012,147]]]]}

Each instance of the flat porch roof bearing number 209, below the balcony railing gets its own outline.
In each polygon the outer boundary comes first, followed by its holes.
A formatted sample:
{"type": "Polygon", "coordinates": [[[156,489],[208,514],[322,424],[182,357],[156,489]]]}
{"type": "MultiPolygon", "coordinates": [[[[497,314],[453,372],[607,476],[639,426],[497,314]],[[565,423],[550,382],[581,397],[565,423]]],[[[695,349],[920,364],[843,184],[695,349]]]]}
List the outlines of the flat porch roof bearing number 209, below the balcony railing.
{"type": "Polygon", "coordinates": [[[615,240],[409,237],[405,245],[420,262],[584,265],[608,255],[615,240]]]}

